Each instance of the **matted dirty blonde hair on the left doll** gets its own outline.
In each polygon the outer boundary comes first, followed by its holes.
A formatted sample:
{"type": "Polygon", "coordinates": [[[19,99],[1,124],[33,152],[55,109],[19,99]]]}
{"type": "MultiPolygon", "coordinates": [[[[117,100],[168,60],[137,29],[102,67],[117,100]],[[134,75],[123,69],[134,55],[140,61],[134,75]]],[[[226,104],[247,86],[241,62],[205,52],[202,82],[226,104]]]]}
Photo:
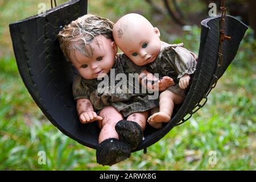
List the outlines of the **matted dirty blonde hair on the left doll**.
{"type": "Polygon", "coordinates": [[[60,48],[68,61],[71,50],[76,50],[86,57],[92,57],[93,51],[90,47],[97,35],[103,35],[107,39],[113,39],[114,23],[109,19],[97,15],[87,14],[73,20],[59,32],[60,48]]]}

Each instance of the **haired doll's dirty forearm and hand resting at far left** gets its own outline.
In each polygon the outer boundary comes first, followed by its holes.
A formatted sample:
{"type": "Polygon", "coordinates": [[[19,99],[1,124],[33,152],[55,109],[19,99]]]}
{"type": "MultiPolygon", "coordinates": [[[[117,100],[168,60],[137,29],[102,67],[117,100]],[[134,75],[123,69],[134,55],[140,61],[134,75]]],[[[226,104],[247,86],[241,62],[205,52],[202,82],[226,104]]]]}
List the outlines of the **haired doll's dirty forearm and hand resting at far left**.
{"type": "Polygon", "coordinates": [[[87,98],[77,99],[76,109],[81,123],[90,123],[103,119],[94,112],[92,102],[87,98]]]}

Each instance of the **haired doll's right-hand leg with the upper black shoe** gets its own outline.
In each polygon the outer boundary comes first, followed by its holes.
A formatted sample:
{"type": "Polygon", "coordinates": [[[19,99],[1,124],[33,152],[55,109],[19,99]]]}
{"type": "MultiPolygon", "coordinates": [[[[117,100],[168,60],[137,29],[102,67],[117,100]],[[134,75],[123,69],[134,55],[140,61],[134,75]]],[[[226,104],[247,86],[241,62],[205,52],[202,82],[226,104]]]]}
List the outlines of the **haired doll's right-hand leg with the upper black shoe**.
{"type": "Polygon", "coordinates": [[[121,141],[129,143],[131,150],[135,149],[143,139],[143,130],[146,127],[148,111],[133,113],[115,125],[121,141]]]}

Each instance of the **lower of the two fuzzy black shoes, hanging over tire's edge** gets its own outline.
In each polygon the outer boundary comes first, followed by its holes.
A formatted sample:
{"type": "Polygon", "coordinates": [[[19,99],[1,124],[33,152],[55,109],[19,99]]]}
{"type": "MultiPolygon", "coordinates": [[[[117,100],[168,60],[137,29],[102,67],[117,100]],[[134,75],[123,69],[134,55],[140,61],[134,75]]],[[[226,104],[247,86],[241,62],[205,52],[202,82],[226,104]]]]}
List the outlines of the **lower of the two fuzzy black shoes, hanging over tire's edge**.
{"type": "Polygon", "coordinates": [[[96,150],[97,163],[102,166],[112,166],[129,158],[130,155],[131,148],[129,144],[121,142],[116,138],[104,140],[96,150]]]}

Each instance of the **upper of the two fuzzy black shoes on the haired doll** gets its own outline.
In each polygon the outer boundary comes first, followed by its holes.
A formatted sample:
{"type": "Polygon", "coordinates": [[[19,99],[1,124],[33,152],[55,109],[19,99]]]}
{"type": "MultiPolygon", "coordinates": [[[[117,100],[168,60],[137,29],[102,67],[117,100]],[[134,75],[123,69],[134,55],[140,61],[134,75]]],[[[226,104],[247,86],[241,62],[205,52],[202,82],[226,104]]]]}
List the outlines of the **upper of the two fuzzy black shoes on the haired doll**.
{"type": "Polygon", "coordinates": [[[143,131],[136,122],[123,119],[115,125],[115,130],[121,141],[130,144],[131,150],[134,150],[142,141],[143,131]]]}

